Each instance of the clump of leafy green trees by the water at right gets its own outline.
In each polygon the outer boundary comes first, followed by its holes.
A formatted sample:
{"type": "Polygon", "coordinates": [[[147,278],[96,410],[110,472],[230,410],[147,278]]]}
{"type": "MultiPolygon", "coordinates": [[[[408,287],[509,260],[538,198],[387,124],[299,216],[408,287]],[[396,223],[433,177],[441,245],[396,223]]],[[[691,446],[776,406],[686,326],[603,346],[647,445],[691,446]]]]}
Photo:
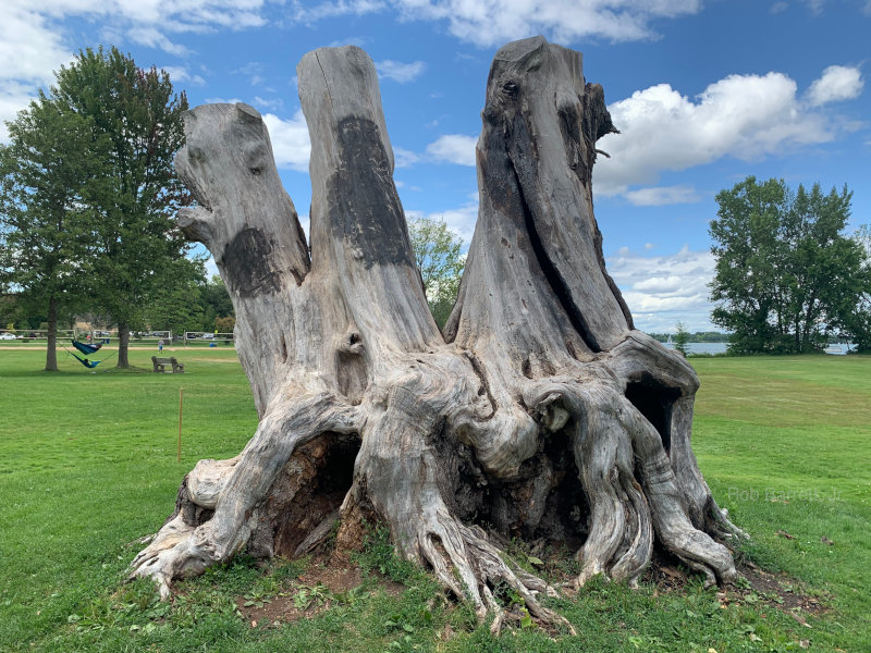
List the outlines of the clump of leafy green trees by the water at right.
{"type": "Polygon", "coordinates": [[[734,352],[808,352],[856,326],[871,275],[867,252],[843,233],[851,196],[753,176],[717,194],[711,319],[734,333],[734,352]]]}

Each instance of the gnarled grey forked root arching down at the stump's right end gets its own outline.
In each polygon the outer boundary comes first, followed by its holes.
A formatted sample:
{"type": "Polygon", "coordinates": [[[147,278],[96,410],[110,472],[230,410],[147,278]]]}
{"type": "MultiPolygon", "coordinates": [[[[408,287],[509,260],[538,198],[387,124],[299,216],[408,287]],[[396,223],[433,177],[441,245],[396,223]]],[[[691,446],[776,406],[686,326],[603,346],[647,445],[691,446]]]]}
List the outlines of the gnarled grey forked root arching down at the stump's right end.
{"type": "Polygon", "coordinates": [[[728,550],[688,517],[661,433],[613,381],[550,380],[528,390],[525,399],[545,427],[560,410],[571,416],[561,422],[572,432],[590,508],[575,587],[599,574],[635,584],[650,563],[654,533],[709,584],[735,580],[728,550]]]}

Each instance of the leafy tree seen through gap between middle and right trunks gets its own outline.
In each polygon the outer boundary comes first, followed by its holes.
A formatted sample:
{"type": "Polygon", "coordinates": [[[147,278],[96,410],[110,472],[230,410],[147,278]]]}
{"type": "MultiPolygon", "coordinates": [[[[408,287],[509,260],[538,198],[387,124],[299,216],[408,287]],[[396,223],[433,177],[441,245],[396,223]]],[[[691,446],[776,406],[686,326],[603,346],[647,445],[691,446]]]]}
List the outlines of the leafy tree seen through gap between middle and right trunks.
{"type": "Polygon", "coordinates": [[[466,262],[461,251],[463,242],[447,229],[444,220],[429,218],[408,220],[408,235],[430,312],[442,328],[456,304],[466,262]]]}

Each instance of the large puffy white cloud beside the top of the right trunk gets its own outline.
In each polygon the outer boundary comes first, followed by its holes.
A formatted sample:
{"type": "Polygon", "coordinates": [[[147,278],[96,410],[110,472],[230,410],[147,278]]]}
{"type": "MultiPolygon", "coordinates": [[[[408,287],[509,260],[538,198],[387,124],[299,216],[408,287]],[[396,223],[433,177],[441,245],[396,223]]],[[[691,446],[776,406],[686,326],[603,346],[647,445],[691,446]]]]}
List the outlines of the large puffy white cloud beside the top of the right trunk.
{"type": "Polygon", "coordinates": [[[609,134],[597,144],[611,155],[600,158],[593,169],[593,187],[602,195],[655,183],[666,170],[725,157],[759,160],[787,148],[826,143],[839,128],[831,115],[803,107],[796,83],[774,72],[731,75],[695,100],[659,84],[609,110],[621,134],[609,134]]]}

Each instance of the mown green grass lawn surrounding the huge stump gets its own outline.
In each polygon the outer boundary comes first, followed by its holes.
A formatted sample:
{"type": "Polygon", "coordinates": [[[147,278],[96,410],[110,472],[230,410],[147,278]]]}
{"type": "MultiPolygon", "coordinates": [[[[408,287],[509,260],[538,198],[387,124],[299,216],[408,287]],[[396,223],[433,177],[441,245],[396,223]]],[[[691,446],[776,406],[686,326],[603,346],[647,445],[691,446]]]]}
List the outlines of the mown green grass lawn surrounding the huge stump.
{"type": "Polygon", "coordinates": [[[341,594],[305,584],[305,562],[259,569],[244,556],[182,583],[171,605],[125,584],[131,543],[169,516],[184,473],[238,453],[257,423],[232,348],[164,349],[185,374],[150,373],[155,353],[132,350],[138,373],[94,373],[61,353],[49,374],[41,349],[0,350],[0,651],[871,651],[871,358],[692,359],[699,465],[752,535],[741,558],[771,571],[780,596],[593,582],[554,601],[577,637],[517,626],[494,638],[378,533],[357,560],[361,588],[341,594]],[[790,594],[821,608],[793,611],[790,594]],[[309,616],[240,616],[269,601],[309,616]]]}

